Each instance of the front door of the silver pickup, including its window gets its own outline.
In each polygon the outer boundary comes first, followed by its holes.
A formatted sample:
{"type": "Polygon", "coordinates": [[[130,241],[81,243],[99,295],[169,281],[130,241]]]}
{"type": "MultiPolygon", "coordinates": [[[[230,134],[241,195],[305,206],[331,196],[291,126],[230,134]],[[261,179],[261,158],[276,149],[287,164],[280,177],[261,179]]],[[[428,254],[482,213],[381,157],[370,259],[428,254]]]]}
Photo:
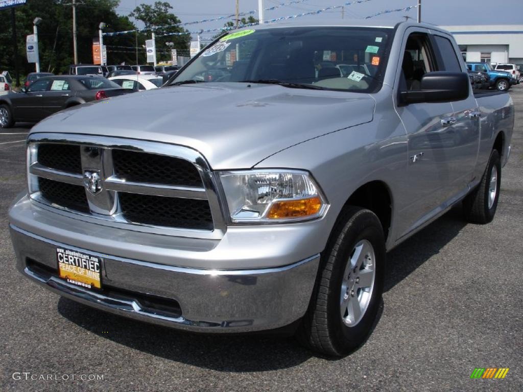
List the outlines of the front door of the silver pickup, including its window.
{"type": "MultiPolygon", "coordinates": [[[[422,76],[437,71],[428,29],[411,27],[406,30],[397,68],[395,97],[399,97],[401,91],[419,89],[422,76]]],[[[448,184],[453,176],[448,156],[455,142],[453,132],[449,131],[453,116],[449,102],[403,106],[398,102],[396,98],[396,111],[408,136],[404,203],[399,212],[401,238],[444,208],[442,203],[450,197],[448,184]]]]}

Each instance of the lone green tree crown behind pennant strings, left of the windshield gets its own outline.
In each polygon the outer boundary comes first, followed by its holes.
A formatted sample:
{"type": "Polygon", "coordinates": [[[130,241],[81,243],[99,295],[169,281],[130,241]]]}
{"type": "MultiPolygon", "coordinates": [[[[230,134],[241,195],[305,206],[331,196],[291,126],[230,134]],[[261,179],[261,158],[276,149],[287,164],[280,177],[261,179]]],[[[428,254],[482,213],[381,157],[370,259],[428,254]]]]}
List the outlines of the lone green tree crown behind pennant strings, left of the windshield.
{"type": "MultiPolygon", "coordinates": [[[[188,53],[191,40],[190,33],[179,26],[180,19],[171,13],[170,9],[173,9],[173,7],[169,3],[161,1],[157,1],[153,5],[140,4],[134,8],[129,17],[142,21],[146,29],[154,29],[157,51],[159,49],[165,52],[163,50],[165,42],[173,42],[173,49],[176,49],[178,53],[188,53]]],[[[142,36],[146,35],[148,34],[142,34],[142,36]]]]}

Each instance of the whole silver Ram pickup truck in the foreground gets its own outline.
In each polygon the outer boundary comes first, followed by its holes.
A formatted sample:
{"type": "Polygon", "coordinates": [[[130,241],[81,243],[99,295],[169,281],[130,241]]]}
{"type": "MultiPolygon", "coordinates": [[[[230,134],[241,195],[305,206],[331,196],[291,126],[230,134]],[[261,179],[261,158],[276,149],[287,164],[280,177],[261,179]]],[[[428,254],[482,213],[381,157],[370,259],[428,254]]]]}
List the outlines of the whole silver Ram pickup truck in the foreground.
{"type": "Polygon", "coordinates": [[[514,108],[466,72],[433,25],[230,32],[169,86],[31,130],[18,269],[123,316],[294,328],[345,355],[376,317],[386,251],[456,203],[494,217],[514,108]]]}

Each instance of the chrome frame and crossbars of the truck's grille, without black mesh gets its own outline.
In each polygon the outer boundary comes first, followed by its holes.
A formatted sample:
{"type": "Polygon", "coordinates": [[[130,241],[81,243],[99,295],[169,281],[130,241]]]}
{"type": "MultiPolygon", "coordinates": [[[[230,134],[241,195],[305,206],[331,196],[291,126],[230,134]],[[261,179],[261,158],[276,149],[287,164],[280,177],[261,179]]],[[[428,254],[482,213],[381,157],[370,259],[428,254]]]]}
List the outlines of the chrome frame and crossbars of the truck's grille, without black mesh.
{"type": "MultiPolygon", "coordinates": [[[[64,216],[73,217],[89,223],[101,224],[111,227],[117,227],[128,230],[135,230],[145,233],[172,235],[179,237],[191,238],[207,238],[220,239],[226,232],[226,222],[222,205],[219,200],[219,188],[214,179],[213,172],[207,160],[195,149],[180,146],[176,144],[168,144],[161,142],[143,141],[137,139],[127,139],[120,137],[106,137],[83,134],[63,134],[63,133],[32,133],[28,136],[27,141],[27,158],[28,158],[28,194],[31,200],[38,203],[38,206],[44,210],[52,211],[64,216]],[[112,215],[100,213],[82,213],[67,209],[59,205],[49,204],[44,200],[38,189],[37,177],[44,177],[55,181],[71,183],[73,185],[84,186],[83,176],[74,175],[60,170],[54,170],[43,167],[37,162],[37,148],[40,143],[54,143],[54,144],[77,144],[80,146],[98,147],[106,151],[110,149],[123,149],[133,152],[150,153],[156,155],[165,155],[189,161],[198,170],[202,179],[203,187],[183,187],[183,186],[167,186],[149,183],[129,182],[129,187],[126,188],[126,183],[112,171],[112,163],[104,160],[102,164],[105,170],[106,179],[104,179],[103,186],[106,190],[113,192],[129,192],[140,194],[154,194],[166,197],[179,197],[197,200],[208,200],[211,210],[213,229],[187,229],[177,227],[155,226],[149,224],[135,223],[127,221],[119,209],[119,202],[115,202],[115,210],[112,215]]],[[[110,157],[111,154],[104,152],[104,156],[110,157]]],[[[86,192],[88,193],[88,192],[86,192]]],[[[91,203],[89,202],[89,205],[91,203]]]]}

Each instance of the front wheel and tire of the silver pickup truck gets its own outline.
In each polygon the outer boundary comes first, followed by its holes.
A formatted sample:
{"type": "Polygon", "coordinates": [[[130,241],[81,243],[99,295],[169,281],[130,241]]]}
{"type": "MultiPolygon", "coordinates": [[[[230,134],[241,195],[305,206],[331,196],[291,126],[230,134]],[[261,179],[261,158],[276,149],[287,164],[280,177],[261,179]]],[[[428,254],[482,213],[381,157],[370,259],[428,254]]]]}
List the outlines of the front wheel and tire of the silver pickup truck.
{"type": "Polygon", "coordinates": [[[344,209],[322,253],[309,309],[297,337],[320,354],[344,356],[369,335],[380,306],[385,240],[369,210],[344,209]]]}

